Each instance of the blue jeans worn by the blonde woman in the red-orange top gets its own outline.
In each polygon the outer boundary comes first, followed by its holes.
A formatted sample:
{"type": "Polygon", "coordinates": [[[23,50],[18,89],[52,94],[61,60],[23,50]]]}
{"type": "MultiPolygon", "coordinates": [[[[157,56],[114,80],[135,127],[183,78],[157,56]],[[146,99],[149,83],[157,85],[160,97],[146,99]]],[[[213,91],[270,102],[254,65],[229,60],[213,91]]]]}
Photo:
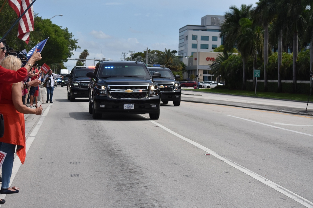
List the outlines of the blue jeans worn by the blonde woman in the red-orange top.
{"type": "Polygon", "coordinates": [[[8,144],[0,142],[0,150],[7,153],[3,164],[2,164],[2,184],[1,188],[8,189],[10,185],[10,178],[12,175],[13,161],[14,161],[14,152],[15,146],[13,144],[8,144]]]}

